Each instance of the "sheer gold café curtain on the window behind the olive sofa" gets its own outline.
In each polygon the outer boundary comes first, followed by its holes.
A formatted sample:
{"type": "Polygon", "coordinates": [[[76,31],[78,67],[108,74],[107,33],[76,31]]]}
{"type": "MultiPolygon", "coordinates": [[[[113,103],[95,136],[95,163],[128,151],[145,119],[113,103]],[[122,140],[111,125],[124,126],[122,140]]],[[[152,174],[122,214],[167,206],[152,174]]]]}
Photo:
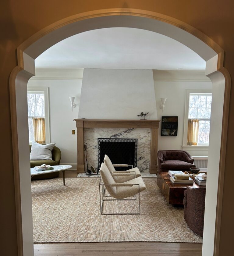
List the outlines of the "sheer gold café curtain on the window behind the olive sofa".
{"type": "Polygon", "coordinates": [[[45,144],[45,118],[33,117],[34,140],[40,144],[45,144]]]}

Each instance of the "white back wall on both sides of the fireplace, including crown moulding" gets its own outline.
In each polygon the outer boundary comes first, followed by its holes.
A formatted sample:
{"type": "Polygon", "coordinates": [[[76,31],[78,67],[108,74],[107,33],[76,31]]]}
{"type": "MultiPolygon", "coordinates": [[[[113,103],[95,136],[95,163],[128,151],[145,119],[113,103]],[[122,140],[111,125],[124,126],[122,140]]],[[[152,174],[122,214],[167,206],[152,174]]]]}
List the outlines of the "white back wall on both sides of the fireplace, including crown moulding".
{"type": "MultiPolygon", "coordinates": [[[[32,77],[28,82],[28,87],[49,88],[51,142],[55,142],[56,146],[62,151],[61,164],[72,164],[74,165],[73,169],[76,169],[75,165],[77,162],[76,135],[72,135],[72,130],[76,130],[76,123],[73,119],[78,118],[82,72],[83,70],[80,69],[37,69],[36,76],[32,77]],[[77,106],[73,109],[73,112],[71,111],[69,96],[76,96],[75,103],[77,106]]],[[[204,71],[161,70],[156,72],[154,70],[153,73],[154,95],[152,98],[156,99],[158,116],[156,119],[161,120],[161,116],[179,116],[177,137],[162,137],[160,122],[158,150],[181,150],[183,145],[186,90],[211,90],[211,81],[204,76],[204,71]],[[159,108],[161,104],[160,98],[167,98],[163,113],[159,108]]],[[[123,95],[124,99],[126,99],[125,97],[128,97],[128,95],[123,95]]],[[[144,93],[142,94],[143,97],[144,93]]],[[[137,116],[133,116],[132,119],[137,118],[137,116]]],[[[208,155],[207,150],[193,150],[189,152],[193,156],[208,155]]]]}

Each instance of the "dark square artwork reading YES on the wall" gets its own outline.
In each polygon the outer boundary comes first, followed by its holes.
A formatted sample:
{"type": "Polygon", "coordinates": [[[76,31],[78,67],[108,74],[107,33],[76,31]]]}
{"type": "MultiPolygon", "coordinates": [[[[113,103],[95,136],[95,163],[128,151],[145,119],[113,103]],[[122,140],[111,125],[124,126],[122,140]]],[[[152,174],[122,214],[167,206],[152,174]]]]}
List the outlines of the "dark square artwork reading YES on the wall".
{"type": "Polygon", "coordinates": [[[177,136],[178,116],[162,116],[161,136],[177,136]]]}

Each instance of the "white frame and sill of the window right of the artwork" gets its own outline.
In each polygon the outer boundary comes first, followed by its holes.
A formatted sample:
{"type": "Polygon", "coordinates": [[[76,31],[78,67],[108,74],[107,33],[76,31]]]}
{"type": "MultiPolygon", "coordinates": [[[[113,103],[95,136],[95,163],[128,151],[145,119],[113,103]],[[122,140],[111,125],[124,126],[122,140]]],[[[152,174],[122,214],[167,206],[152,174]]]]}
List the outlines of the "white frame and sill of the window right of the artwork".
{"type": "MultiPolygon", "coordinates": [[[[187,145],[188,138],[188,123],[189,123],[189,98],[190,94],[212,94],[211,90],[186,90],[185,113],[184,113],[184,135],[183,135],[183,150],[208,150],[209,145],[187,145]]],[[[212,106],[211,106],[212,108],[212,106]]]]}

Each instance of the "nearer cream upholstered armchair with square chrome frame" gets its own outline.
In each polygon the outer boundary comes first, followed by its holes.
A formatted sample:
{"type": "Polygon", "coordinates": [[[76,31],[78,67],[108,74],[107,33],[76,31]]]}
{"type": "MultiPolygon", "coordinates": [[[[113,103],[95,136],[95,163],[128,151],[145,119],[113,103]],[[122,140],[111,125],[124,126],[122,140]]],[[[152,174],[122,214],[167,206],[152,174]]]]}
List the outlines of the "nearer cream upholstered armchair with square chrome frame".
{"type": "Polygon", "coordinates": [[[140,192],[146,189],[144,181],[141,177],[134,178],[122,183],[116,183],[114,177],[122,176],[129,177],[130,173],[110,173],[105,163],[101,164],[100,168],[101,179],[99,182],[99,197],[100,197],[100,212],[101,215],[122,215],[122,214],[140,214],[140,192]],[[109,193],[105,195],[105,189],[109,193]],[[103,213],[104,201],[114,200],[128,200],[128,201],[139,201],[139,212],[137,213],[103,213]],[[110,198],[111,199],[108,199],[110,198]],[[133,197],[130,198],[130,197],[133,197]]]}

